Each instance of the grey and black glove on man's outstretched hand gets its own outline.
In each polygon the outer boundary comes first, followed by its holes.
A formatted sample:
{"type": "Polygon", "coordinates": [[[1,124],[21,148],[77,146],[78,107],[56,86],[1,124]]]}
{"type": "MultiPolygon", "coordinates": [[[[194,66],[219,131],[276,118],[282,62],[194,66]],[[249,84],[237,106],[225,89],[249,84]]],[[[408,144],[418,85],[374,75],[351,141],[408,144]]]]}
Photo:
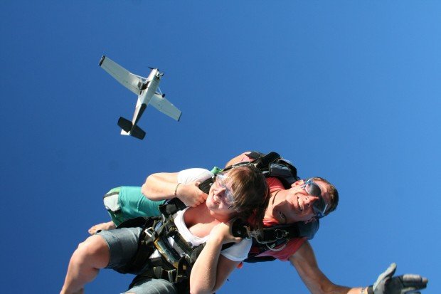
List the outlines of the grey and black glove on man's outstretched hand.
{"type": "Polygon", "coordinates": [[[410,274],[393,277],[396,269],[396,263],[392,263],[384,273],[378,275],[376,282],[368,287],[368,294],[420,294],[417,290],[426,288],[427,278],[410,274]]]}

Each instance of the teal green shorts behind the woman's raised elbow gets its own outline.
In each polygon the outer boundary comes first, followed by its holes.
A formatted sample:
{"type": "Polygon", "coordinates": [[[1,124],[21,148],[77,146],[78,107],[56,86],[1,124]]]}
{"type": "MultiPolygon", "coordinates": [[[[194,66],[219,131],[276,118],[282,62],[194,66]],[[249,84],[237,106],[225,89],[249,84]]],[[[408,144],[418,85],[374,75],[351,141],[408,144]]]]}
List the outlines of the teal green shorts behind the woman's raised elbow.
{"type": "Polygon", "coordinates": [[[117,187],[104,198],[104,206],[115,225],[138,216],[159,216],[158,206],[165,200],[152,201],[141,193],[141,187],[117,187]]]}

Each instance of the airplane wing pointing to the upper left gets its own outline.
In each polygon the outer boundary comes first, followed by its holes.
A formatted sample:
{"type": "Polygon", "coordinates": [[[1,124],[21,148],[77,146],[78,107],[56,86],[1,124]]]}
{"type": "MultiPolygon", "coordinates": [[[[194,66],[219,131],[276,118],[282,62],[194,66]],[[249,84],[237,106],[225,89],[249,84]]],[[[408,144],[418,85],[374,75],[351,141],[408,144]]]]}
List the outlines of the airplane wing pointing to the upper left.
{"type": "Polygon", "coordinates": [[[129,70],[126,70],[107,56],[102,56],[100,66],[102,67],[102,69],[107,71],[107,73],[112,75],[115,80],[117,80],[124,87],[131,90],[136,95],[139,95],[141,93],[138,85],[139,82],[142,83],[147,80],[146,78],[142,78],[139,75],[134,75],[133,73],[130,73],[129,70]]]}

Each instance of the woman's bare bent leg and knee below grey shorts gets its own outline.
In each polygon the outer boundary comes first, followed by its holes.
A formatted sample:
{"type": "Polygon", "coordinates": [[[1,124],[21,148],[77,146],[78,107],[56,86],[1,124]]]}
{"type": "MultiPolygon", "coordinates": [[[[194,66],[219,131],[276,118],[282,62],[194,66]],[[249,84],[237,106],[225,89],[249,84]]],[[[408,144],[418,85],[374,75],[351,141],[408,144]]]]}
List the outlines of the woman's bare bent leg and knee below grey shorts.
{"type": "Polygon", "coordinates": [[[87,238],[78,245],[70,258],[60,294],[84,293],[84,285],[96,278],[100,268],[105,268],[109,259],[109,247],[103,238],[98,235],[87,238]]]}

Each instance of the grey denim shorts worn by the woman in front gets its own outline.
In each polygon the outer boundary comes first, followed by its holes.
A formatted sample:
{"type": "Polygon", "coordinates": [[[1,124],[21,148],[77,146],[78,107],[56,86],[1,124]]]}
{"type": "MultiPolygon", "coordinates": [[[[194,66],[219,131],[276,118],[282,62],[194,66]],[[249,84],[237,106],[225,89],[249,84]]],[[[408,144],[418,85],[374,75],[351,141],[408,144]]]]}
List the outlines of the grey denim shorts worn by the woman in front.
{"type": "MultiPolygon", "coordinates": [[[[111,268],[115,271],[121,271],[124,267],[132,261],[134,254],[138,248],[138,238],[141,233],[141,228],[121,228],[110,231],[100,231],[97,235],[101,236],[107,243],[110,249],[110,261],[105,268],[111,268]]],[[[147,269],[142,268],[141,271],[131,272],[134,275],[142,273],[147,269]]],[[[168,280],[145,278],[139,280],[132,288],[124,293],[136,294],[164,294],[177,293],[173,283],[168,280]]]]}

